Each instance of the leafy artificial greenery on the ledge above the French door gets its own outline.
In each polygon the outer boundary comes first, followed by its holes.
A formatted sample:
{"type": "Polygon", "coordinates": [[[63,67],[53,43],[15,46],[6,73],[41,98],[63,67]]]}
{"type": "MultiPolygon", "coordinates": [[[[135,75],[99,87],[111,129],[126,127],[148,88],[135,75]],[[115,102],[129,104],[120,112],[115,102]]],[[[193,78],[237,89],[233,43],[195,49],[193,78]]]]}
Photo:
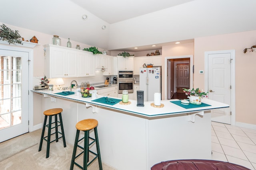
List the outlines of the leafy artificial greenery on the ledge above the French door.
{"type": "Polygon", "coordinates": [[[1,25],[0,27],[0,40],[8,41],[9,44],[22,44],[22,42],[19,40],[21,36],[17,30],[13,31],[12,29],[6,27],[6,25],[4,24],[1,25]]]}

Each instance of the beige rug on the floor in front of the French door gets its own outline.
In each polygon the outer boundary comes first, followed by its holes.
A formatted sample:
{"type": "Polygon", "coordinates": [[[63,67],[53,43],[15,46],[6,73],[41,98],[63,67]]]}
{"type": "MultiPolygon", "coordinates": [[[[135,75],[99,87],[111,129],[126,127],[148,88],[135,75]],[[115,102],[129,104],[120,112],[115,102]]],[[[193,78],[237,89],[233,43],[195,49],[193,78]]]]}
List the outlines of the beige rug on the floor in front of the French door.
{"type": "Polygon", "coordinates": [[[37,145],[37,142],[28,135],[21,135],[0,143],[0,162],[18,154],[30,147],[37,145]]]}

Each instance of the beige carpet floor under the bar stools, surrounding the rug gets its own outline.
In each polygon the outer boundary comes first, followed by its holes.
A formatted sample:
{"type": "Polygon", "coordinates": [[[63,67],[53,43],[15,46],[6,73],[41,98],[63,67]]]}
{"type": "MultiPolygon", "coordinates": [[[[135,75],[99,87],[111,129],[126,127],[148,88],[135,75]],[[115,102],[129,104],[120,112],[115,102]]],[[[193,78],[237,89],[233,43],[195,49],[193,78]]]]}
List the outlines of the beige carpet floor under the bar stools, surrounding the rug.
{"type": "MultiPolygon", "coordinates": [[[[37,143],[40,142],[42,129],[38,129],[31,133],[26,133],[24,136],[30,136],[37,143]]],[[[23,136],[23,135],[22,135],[23,136]]],[[[12,140],[12,139],[11,139],[12,140]]],[[[8,142],[10,142],[9,140],[8,142]]],[[[0,162],[0,170],[69,170],[73,152],[73,145],[66,143],[67,147],[63,147],[62,139],[59,142],[50,144],[50,156],[46,158],[46,142],[43,142],[42,150],[38,152],[39,145],[34,145],[10,158],[0,162]]],[[[0,152],[0,155],[2,153],[0,152]]],[[[82,157],[77,160],[82,164],[82,157]]],[[[116,170],[106,164],[102,164],[103,170],[116,170]]],[[[96,159],[88,170],[98,170],[98,159],[96,159]]],[[[74,170],[80,170],[74,166],[74,170]]]]}

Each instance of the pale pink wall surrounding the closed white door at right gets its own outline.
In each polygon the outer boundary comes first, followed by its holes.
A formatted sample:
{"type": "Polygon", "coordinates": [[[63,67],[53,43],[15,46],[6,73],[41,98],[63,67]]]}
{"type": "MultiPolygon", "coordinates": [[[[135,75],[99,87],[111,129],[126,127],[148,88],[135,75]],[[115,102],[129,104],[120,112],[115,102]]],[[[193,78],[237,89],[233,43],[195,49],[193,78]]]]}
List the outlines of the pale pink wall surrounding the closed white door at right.
{"type": "Polygon", "coordinates": [[[256,84],[256,53],[243,53],[256,44],[256,30],[196,38],[194,44],[194,86],[199,88],[204,88],[204,74],[198,73],[204,70],[204,52],[236,51],[236,122],[256,125],[254,91],[250,90],[256,84]]]}

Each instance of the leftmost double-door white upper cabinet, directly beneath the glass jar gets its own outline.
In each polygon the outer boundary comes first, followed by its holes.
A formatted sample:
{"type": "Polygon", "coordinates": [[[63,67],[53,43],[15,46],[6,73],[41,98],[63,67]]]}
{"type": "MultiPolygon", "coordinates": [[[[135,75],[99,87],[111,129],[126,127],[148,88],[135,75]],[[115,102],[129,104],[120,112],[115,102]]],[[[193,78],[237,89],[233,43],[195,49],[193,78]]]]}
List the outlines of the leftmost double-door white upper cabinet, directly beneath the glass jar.
{"type": "Polygon", "coordinates": [[[49,78],[77,77],[77,53],[59,48],[57,45],[46,47],[44,74],[49,78]]]}

